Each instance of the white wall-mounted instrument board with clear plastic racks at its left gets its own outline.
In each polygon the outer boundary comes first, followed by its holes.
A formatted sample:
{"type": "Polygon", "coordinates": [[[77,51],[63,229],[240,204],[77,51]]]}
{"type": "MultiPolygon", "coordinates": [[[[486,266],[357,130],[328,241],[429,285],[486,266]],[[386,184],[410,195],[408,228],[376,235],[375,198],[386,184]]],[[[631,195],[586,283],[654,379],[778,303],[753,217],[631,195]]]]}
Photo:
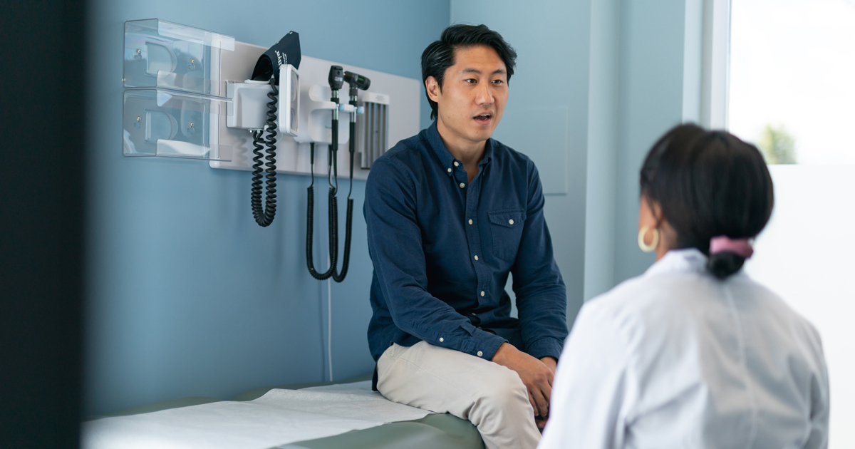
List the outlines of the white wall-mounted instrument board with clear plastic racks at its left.
{"type": "MultiPolygon", "coordinates": [[[[267,50],[253,44],[237,42],[234,38],[195,27],[168,21],[149,19],[125,22],[124,86],[125,94],[122,135],[123,153],[127,157],[189,157],[208,160],[211,168],[252,169],[252,137],[245,129],[229,127],[235,120],[235,104],[229,89],[245,87],[259,56],[267,50]],[[191,126],[192,122],[192,126],[191,126]]],[[[389,145],[406,139],[419,131],[419,103],[422,83],[419,80],[386,74],[374,70],[324,61],[303,56],[299,74],[285,77],[291,80],[283,89],[280,77],[280,99],[283,92],[292,92],[297,102],[297,117],[286,116],[280,110],[280,135],[277,143],[276,171],[309,174],[310,144],[330,143],[330,110],[327,75],[331,65],[364,74],[372,80],[377,92],[359,92],[359,104],[369,106],[378,97],[386,101],[386,110],[372,110],[377,120],[357,117],[357,169],[354,178],[368,177],[369,164],[385,152],[389,145]],[[302,85],[302,86],[300,86],[302,85]],[[314,86],[313,86],[314,85],[314,86]],[[372,100],[371,98],[374,98],[372,100]],[[288,121],[288,126],[284,121],[288,121]],[[368,139],[358,124],[373,122],[376,130],[368,139]],[[296,129],[295,129],[296,128],[296,129]],[[384,131],[385,130],[385,131],[384,131]],[[293,138],[290,135],[296,134],[293,138]],[[363,153],[369,152],[369,155],[363,153]],[[363,168],[364,167],[364,168],[363,168]]],[[[263,86],[266,96],[269,86],[263,86]]],[[[260,89],[260,88],[259,88],[260,89]]],[[[266,98],[264,98],[266,99],[266,98]]],[[[382,104],[383,102],[379,102],[382,104]]],[[[352,106],[339,109],[350,112],[352,106]]],[[[377,109],[377,108],[374,108],[377,109]]],[[[241,117],[239,127],[254,127],[250,121],[263,118],[265,111],[252,119],[241,117]]],[[[357,110],[357,113],[359,111],[357,110]]],[[[339,121],[339,154],[347,151],[348,120],[339,121]]],[[[372,127],[374,129],[374,127],[372,127]]],[[[320,150],[320,149],[318,149],[320,150]]],[[[327,174],[328,151],[317,151],[315,174],[327,174]]],[[[348,173],[349,157],[338,158],[339,174],[348,173]]]]}

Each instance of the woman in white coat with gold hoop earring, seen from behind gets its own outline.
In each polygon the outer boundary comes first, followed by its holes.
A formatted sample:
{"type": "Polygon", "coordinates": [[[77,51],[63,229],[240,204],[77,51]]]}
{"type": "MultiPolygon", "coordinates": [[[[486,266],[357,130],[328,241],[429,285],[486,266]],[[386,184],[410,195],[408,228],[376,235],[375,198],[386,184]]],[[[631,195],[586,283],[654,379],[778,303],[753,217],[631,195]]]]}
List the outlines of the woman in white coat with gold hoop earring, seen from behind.
{"type": "Polygon", "coordinates": [[[582,307],[541,449],[828,446],[817,330],[740,272],[773,202],[763,157],[729,133],[653,145],[638,241],[657,262],[582,307]]]}

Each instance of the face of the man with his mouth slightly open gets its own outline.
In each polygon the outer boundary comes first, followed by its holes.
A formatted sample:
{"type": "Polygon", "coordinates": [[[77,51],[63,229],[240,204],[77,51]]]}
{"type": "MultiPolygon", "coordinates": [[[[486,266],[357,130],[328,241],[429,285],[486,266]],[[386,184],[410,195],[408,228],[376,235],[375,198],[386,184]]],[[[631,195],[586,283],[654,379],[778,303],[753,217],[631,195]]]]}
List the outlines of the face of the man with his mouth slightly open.
{"type": "Polygon", "coordinates": [[[454,60],[445,69],[441,89],[428,77],[428,94],[439,104],[439,121],[453,137],[483,142],[496,129],[508,101],[507,69],[496,50],[486,45],[458,48],[454,60]]]}

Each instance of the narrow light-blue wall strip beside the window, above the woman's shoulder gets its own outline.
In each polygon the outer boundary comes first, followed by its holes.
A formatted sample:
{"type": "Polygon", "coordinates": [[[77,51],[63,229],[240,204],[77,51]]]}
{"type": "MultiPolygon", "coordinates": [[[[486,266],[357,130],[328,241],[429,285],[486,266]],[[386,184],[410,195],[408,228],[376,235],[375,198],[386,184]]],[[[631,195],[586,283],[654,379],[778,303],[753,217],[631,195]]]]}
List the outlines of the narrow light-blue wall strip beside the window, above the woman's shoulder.
{"type": "Polygon", "coordinates": [[[654,257],[638,248],[639,170],[670,127],[699,120],[701,0],[623,0],[618,69],[615,281],[654,257]],[[687,58],[687,56],[690,56],[687,58]],[[697,57],[692,57],[697,56],[697,57]],[[694,106],[692,108],[691,106],[694,106]]]}

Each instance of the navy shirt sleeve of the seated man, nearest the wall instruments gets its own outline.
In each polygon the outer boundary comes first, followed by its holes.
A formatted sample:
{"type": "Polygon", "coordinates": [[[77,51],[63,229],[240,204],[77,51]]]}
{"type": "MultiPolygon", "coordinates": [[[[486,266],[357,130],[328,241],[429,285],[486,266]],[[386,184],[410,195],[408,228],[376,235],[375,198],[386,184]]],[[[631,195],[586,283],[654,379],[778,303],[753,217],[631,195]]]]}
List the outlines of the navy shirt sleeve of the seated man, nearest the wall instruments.
{"type": "Polygon", "coordinates": [[[378,159],[365,186],[369,253],[395,326],[431,345],[491,360],[507,340],[483,331],[428,292],[416,185],[392,158],[378,159]]]}

